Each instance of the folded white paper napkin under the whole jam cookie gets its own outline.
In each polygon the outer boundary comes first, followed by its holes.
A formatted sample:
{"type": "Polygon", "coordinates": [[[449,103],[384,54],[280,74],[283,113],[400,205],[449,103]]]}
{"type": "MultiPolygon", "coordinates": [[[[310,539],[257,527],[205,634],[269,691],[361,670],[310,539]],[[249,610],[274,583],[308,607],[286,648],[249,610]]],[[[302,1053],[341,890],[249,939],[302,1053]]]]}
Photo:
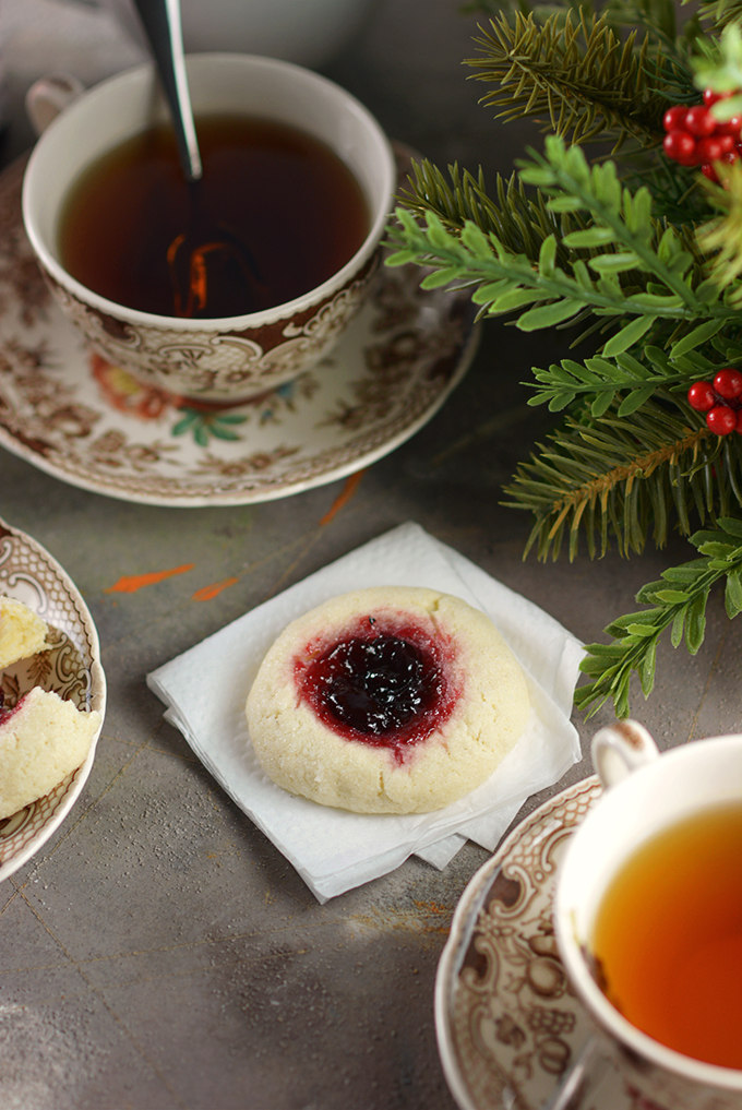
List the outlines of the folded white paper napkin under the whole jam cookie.
{"type": "Polygon", "coordinates": [[[386,875],[415,854],[438,868],[468,838],[494,850],[526,798],[580,758],[569,715],[582,645],[560,624],[417,524],[404,524],[331,563],[148,675],[195,754],[274,842],[319,901],[386,875]],[[245,700],[285,626],[336,594],[428,586],[482,609],[518,657],[531,712],[496,774],[433,814],[350,814],[298,798],[268,779],[247,733],[245,700]]]}

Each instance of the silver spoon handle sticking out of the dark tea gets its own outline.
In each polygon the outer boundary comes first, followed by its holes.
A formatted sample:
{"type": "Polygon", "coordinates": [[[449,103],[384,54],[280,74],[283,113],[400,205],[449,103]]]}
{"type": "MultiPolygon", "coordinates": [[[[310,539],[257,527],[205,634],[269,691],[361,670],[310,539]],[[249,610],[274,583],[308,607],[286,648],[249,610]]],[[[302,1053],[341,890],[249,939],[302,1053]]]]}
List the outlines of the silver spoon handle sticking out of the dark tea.
{"type": "Polygon", "coordinates": [[[134,0],[170,104],[183,172],[189,181],[202,176],[201,154],[183,57],[180,0],[134,0]]]}

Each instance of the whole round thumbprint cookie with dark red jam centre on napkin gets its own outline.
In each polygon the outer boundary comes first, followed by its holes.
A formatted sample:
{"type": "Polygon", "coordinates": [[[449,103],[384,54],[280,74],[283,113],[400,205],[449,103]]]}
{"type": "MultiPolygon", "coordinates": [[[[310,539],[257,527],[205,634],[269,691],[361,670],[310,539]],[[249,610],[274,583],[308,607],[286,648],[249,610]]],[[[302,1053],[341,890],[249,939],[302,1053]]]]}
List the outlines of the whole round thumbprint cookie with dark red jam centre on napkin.
{"type": "Polygon", "coordinates": [[[289,624],[246,714],[257,758],[284,789],[354,813],[414,814],[489,778],[529,698],[489,617],[450,594],[389,586],[289,624]]]}

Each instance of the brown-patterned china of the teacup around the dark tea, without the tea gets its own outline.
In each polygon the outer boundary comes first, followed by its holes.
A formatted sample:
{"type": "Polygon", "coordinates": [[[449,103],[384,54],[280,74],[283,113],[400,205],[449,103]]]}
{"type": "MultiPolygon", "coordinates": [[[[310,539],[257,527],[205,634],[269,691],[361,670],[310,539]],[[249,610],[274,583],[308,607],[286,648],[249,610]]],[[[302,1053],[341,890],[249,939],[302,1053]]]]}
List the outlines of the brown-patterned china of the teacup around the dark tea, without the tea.
{"type": "Polygon", "coordinates": [[[368,208],[353,256],[315,289],[260,312],[221,319],[126,307],[85,287],[60,260],[60,218],[81,172],[106,151],[167,119],[154,69],[136,67],[84,92],[41,135],[23,181],[23,221],[67,316],[108,362],[181,396],[233,404],[315,366],[362,307],[379,263],[396,183],[394,155],[373,115],[349,93],[288,62],[248,54],[186,59],[196,115],[262,118],[325,143],[348,167],[368,208]]]}

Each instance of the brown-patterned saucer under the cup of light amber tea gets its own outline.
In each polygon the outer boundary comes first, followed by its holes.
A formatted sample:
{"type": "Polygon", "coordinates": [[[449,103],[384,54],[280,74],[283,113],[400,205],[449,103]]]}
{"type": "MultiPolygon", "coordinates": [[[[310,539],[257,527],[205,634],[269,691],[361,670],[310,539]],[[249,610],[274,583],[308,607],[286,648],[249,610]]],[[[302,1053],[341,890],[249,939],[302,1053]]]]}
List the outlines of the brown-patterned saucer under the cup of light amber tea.
{"type": "MultiPolygon", "coordinates": [[[[436,1031],[460,1110],[542,1110],[594,1031],[567,983],[551,905],[569,836],[600,794],[593,776],[545,803],[459,901],[436,978],[436,1031]]],[[[606,1058],[575,1106],[641,1104],[606,1058]]]]}

